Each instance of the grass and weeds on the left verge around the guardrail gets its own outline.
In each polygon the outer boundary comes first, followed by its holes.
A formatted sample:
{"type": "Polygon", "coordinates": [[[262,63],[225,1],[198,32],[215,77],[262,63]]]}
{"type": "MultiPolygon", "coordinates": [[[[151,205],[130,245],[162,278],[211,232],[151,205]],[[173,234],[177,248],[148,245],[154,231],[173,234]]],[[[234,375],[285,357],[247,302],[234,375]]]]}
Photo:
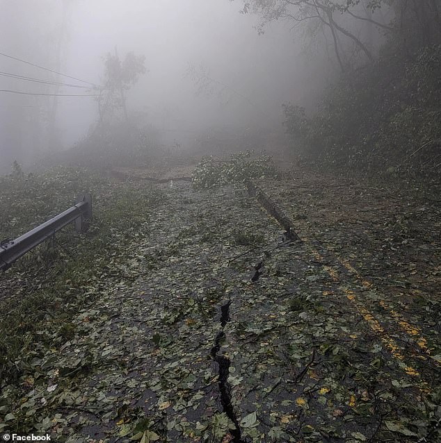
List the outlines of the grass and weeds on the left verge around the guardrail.
{"type": "MultiPolygon", "coordinates": [[[[13,385],[29,384],[29,377],[31,385],[38,384],[35,361],[74,336],[70,319],[79,306],[93,303],[105,287],[138,276],[127,266],[136,260],[131,244],[148,232],[152,211],[164,201],[148,184],[114,183],[85,169],[25,175],[15,164],[12,174],[0,178],[3,240],[69,208],[84,192],[93,194],[88,232],[77,234],[68,226],[0,276],[0,416],[8,394],[14,396],[13,385]]],[[[5,428],[13,417],[2,419],[5,428]]]]}

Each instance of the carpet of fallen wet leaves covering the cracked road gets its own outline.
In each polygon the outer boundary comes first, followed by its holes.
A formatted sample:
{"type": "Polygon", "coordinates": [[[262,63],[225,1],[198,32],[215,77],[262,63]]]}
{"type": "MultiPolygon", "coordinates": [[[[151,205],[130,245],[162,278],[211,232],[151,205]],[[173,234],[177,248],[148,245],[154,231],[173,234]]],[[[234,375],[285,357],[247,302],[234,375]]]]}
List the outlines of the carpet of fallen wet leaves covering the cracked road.
{"type": "MultiPolygon", "coordinates": [[[[287,183],[272,185],[278,195],[287,183]]],[[[73,333],[61,339],[52,332],[47,346],[36,341],[31,369],[3,390],[0,413],[8,426],[70,441],[230,442],[235,425],[223,411],[211,355],[223,328],[218,352],[230,359],[227,383],[246,442],[406,442],[431,431],[440,404],[436,371],[427,366],[421,379],[406,374],[342,290],[351,283],[354,299],[364,297],[383,321],[378,281],[367,288],[343,265],[336,279],[325,269],[342,253],[339,231],[320,224],[317,233],[307,231],[330,249],[314,244],[318,265],[307,246],[280,241],[280,226],[241,188],[194,192],[177,185],[164,192],[167,204],[135,237],[134,260],[124,263],[124,275],[139,278],[111,278],[111,268],[104,278],[97,273],[92,282],[99,286],[83,284],[95,299],[77,306],[73,333]],[[232,241],[239,229],[243,236],[232,241]],[[250,241],[267,253],[250,251],[250,241]],[[251,282],[261,262],[264,271],[251,282]],[[229,321],[222,324],[223,306],[229,321]]],[[[380,266],[369,261],[374,251],[345,247],[352,263],[380,266]]],[[[428,299],[436,303],[426,293],[418,303],[433,308],[428,299]]],[[[401,301],[388,300],[407,314],[410,305],[401,301]]],[[[408,346],[406,358],[424,357],[412,342],[399,343],[408,346]]]]}

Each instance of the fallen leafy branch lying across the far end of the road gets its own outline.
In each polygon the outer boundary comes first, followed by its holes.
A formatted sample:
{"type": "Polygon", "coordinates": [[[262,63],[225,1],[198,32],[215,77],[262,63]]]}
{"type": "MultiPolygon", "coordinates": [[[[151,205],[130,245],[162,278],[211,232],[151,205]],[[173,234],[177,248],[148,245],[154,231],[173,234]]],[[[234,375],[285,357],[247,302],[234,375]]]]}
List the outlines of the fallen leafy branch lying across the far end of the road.
{"type": "Polygon", "coordinates": [[[202,158],[193,172],[193,186],[203,189],[227,183],[243,183],[250,178],[275,178],[277,168],[271,156],[252,156],[252,151],[230,155],[227,160],[202,158]]]}

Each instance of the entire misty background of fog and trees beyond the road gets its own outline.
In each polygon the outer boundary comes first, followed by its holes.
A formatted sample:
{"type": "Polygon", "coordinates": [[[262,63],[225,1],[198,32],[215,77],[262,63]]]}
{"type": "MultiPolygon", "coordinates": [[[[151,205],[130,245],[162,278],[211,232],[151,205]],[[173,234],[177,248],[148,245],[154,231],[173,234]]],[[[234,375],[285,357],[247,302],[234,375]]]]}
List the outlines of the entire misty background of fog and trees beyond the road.
{"type": "Polygon", "coordinates": [[[440,172],[440,0],[0,5],[0,174],[247,149],[440,172]]]}

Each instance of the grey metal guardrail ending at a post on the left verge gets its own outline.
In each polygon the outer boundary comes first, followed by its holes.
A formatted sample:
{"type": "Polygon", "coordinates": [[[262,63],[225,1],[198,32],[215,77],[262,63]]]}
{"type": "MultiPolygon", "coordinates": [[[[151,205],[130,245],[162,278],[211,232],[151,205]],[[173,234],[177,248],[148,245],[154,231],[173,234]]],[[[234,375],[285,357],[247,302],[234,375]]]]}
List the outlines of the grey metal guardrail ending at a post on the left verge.
{"type": "Polygon", "coordinates": [[[6,271],[15,260],[24,256],[35,246],[44,242],[67,224],[75,222],[75,230],[84,232],[92,218],[92,196],[84,194],[78,197],[72,208],[61,212],[47,222],[27,232],[15,240],[0,244],[0,270],[6,271]]]}

